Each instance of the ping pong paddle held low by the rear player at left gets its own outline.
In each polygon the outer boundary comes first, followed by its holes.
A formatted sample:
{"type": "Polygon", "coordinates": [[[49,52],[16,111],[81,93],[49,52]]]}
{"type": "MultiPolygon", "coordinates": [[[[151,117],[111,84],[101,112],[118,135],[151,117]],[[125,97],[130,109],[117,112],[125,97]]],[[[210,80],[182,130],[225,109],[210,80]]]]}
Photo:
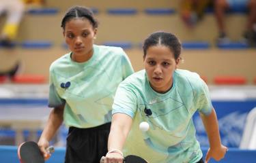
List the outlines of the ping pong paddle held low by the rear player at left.
{"type": "MultiPolygon", "coordinates": [[[[50,146],[46,149],[48,153],[53,153],[54,147],[50,146]]],[[[18,158],[21,163],[44,163],[44,157],[38,147],[38,143],[34,141],[26,141],[18,147],[18,158]]]]}

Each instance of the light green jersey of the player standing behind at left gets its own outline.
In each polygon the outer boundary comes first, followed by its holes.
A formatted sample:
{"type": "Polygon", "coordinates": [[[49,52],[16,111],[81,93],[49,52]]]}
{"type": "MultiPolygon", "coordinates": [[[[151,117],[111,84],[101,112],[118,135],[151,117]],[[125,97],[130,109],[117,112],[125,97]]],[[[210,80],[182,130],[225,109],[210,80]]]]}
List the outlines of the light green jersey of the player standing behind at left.
{"type": "Polygon", "coordinates": [[[122,48],[94,45],[87,62],[74,62],[72,53],[50,67],[49,107],[65,104],[66,126],[91,128],[111,122],[113,97],[120,82],[134,71],[122,48]]]}

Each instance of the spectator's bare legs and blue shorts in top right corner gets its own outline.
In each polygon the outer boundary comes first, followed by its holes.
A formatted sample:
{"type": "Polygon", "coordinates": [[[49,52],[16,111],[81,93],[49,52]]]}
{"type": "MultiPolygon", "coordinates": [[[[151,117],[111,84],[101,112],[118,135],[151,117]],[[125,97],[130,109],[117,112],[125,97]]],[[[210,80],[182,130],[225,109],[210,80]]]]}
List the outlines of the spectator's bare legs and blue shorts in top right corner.
{"type": "Polygon", "coordinates": [[[248,8],[248,20],[246,24],[246,31],[243,34],[243,40],[246,43],[255,43],[255,31],[253,30],[253,24],[256,22],[256,0],[215,0],[214,8],[215,15],[218,24],[218,43],[228,43],[229,38],[227,37],[225,28],[225,12],[232,10],[235,7],[248,8]]]}

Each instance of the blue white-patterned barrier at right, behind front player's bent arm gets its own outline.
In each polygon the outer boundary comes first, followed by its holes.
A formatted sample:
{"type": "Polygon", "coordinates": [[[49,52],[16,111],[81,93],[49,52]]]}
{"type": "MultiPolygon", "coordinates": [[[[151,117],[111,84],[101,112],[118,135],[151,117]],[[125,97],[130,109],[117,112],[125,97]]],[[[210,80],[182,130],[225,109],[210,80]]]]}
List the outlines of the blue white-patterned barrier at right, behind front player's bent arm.
{"type": "MultiPolygon", "coordinates": [[[[239,147],[247,114],[256,106],[256,100],[212,101],[212,105],[218,117],[218,127],[223,145],[234,148],[239,147]]],[[[197,130],[197,140],[201,146],[208,147],[208,137],[199,113],[193,115],[193,122],[197,130]]]]}

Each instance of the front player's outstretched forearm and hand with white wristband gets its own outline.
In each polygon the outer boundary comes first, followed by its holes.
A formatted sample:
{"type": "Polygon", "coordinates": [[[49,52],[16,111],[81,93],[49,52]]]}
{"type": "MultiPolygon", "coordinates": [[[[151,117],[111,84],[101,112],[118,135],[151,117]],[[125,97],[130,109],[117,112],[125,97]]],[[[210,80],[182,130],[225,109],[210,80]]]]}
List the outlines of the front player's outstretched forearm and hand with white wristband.
{"type": "Polygon", "coordinates": [[[115,113],[112,117],[111,131],[109,133],[108,148],[109,153],[106,154],[105,163],[123,162],[122,151],[126,137],[132,126],[132,117],[124,113],[115,113]]]}

